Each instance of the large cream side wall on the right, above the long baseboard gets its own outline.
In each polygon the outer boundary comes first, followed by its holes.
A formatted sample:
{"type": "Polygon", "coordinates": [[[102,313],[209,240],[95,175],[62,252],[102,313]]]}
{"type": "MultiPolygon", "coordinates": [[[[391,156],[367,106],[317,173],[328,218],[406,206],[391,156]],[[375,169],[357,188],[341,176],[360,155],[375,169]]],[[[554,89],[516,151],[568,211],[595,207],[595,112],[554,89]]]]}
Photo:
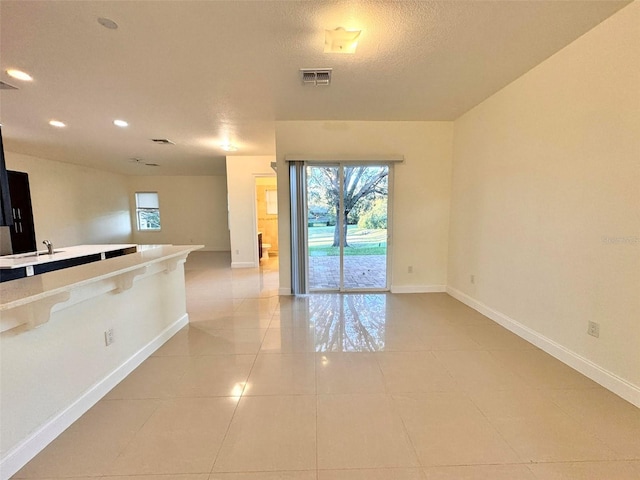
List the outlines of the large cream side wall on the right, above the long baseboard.
{"type": "Polygon", "coordinates": [[[639,52],[635,2],[455,122],[449,247],[453,289],[636,404],[639,52]]]}

